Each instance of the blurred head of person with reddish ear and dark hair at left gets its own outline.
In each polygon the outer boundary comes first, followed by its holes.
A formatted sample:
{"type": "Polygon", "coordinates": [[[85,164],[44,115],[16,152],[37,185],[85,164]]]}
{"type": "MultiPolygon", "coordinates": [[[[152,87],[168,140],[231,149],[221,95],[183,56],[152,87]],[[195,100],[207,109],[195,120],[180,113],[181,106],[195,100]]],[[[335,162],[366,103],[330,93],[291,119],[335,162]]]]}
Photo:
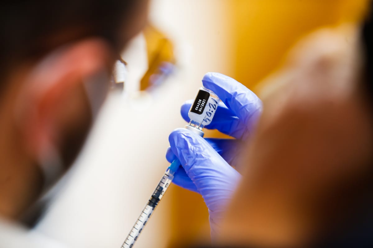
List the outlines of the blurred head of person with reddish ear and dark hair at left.
{"type": "Polygon", "coordinates": [[[72,163],[147,4],[1,1],[1,216],[19,216],[72,163]]]}

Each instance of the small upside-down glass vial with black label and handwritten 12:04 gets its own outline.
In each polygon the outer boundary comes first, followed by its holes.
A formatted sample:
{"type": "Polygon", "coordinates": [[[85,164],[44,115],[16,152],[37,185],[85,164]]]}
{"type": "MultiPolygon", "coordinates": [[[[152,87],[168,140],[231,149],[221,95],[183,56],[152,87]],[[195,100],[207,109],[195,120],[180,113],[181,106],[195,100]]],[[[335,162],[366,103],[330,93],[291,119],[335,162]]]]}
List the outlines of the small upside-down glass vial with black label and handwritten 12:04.
{"type": "Polygon", "coordinates": [[[194,103],[189,109],[188,117],[190,122],[185,126],[185,128],[203,136],[203,128],[211,123],[211,120],[216,113],[219,101],[219,97],[213,91],[201,87],[198,90],[194,103]]]}

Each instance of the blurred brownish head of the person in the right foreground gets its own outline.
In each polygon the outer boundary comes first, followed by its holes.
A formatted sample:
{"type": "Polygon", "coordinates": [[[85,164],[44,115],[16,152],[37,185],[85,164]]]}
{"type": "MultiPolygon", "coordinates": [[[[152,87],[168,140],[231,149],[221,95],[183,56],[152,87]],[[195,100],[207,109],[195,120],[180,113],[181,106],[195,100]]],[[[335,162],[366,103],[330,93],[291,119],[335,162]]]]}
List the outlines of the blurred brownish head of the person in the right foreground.
{"type": "Polygon", "coordinates": [[[270,78],[222,242],[372,247],[372,22],[317,30],[270,78]]]}

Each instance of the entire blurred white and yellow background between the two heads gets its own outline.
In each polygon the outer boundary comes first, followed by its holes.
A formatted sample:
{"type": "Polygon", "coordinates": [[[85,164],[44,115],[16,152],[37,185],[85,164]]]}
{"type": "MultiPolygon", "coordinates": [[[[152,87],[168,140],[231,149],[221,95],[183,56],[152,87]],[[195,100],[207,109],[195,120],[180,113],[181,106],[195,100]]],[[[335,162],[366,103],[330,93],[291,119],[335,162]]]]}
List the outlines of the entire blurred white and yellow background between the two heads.
{"type": "MultiPolygon", "coordinates": [[[[71,247],[122,244],[169,165],[168,135],[185,125],[180,106],[195,95],[205,73],[229,75],[259,92],[299,39],[323,26],[357,22],[366,3],[151,0],[150,24],[121,54],[127,62],[123,92],[109,95],[37,231],[71,247]],[[160,115],[160,109],[167,111],[160,115]]],[[[202,197],[175,185],[167,192],[136,247],[209,239],[202,197]]]]}

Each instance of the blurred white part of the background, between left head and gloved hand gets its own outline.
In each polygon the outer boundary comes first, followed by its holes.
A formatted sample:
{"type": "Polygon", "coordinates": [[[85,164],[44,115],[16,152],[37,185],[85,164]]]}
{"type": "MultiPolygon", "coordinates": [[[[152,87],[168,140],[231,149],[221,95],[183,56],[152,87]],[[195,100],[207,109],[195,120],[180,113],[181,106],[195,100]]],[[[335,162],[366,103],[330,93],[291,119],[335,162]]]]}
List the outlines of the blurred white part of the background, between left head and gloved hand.
{"type": "MultiPolygon", "coordinates": [[[[152,2],[150,19],[175,42],[179,69],[151,95],[107,99],[36,231],[71,247],[120,247],[168,166],[168,135],[185,125],[181,104],[195,96],[206,72],[231,71],[225,11],[224,1],[152,2]]],[[[143,68],[147,63],[136,49],[141,44],[131,46],[126,54],[132,55],[125,58],[131,78],[141,78],[136,73],[142,71],[131,70],[131,64],[143,68]]],[[[169,202],[163,198],[137,248],[166,247],[169,202]]]]}

